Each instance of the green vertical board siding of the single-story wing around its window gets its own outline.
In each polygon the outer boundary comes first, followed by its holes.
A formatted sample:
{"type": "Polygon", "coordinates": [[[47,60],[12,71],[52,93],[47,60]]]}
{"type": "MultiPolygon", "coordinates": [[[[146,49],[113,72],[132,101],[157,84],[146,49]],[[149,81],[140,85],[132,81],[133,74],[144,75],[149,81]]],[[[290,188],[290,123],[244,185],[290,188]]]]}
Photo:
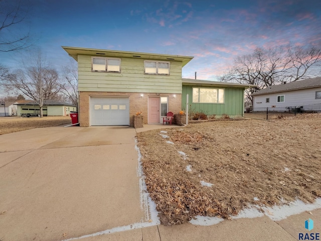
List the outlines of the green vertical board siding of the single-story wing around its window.
{"type": "MultiPolygon", "coordinates": [[[[197,88],[202,86],[195,86],[197,88]]],[[[208,87],[204,86],[204,88],[222,88],[219,86],[208,87]]],[[[224,87],[224,104],[220,103],[193,103],[192,102],[192,94],[193,94],[193,86],[183,85],[182,90],[182,109],[186,109],[186,94],[189,94],[189,112],[204,112],[207,115],[215,114],[220,116],[222,114],[228,114],[229,116],[237,116],[243,115],[243,96],[244,96],[244,88],[236,88],[236,87],[224,87]]]]}

